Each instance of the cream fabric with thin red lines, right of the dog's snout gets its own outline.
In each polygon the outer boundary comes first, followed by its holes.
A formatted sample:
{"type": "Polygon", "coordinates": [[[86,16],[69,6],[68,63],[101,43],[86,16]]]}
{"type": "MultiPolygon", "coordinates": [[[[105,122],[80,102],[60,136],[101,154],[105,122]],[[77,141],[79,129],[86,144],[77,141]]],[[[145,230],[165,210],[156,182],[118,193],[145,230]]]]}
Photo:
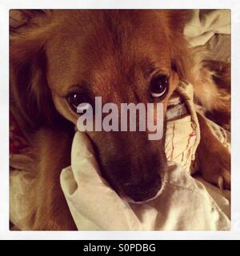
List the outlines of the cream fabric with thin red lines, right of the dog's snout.
{"type": "MultiPolygon", "coordinates": [[[[200,142],[200,128],[194,107],[194,90],[188,82],[180,82],[177,92],[173,95],[169,105],[178,106],[179,102],[184,103],[187,113],[178,116],[166,123],[165,153],[168,161],[178,162],[184,170],[194,173],[192,162],[195,159],[195,152],[200,142]]],[[[168,114],[167,110],[166,115],[168,114]]]]}

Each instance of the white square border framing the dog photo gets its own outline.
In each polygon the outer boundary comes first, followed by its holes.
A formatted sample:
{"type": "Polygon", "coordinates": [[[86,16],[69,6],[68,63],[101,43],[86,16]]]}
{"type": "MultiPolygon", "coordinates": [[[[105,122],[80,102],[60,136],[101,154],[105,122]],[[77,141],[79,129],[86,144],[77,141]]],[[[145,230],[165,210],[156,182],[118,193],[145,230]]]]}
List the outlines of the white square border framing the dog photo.
{"type": "Polygon", "coordinates": [[[238,0],[0,0],[0,239],[239,239],[240,238],[240,2],[238,0]],[[10,231],[9,230],[9,10],[10,9],[230,9],[231,10],[231,230],[230,231],[10,231]]]}

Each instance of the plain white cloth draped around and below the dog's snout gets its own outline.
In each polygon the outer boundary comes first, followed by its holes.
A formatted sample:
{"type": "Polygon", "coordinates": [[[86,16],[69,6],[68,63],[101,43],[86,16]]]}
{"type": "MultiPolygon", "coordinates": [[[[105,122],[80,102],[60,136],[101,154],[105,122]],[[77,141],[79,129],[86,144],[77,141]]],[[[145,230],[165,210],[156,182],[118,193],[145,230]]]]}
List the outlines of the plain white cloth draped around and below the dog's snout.
{"type": "Polygon", "coordinates": [[[71,162],[61,185],[78,230],[230,230],[229,201],[177,163],[169,162],[158,198],[134,204],[102,179],[85,134],[75,134],[71,162]]]}

